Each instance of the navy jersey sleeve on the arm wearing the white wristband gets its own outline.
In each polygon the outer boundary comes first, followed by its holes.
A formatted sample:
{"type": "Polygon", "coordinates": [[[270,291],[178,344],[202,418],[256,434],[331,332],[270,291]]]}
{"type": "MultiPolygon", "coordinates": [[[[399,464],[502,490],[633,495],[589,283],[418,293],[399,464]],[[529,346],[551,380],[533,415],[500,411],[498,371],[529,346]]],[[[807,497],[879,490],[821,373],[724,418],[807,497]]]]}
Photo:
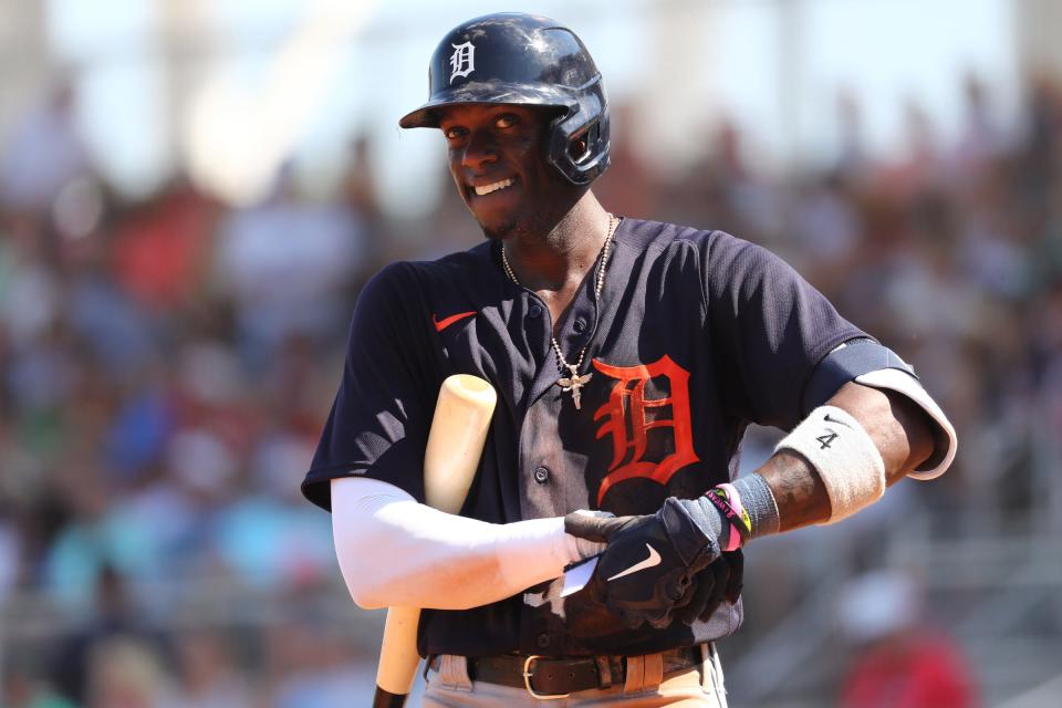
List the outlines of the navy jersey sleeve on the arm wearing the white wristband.
{"type": "Polygon", "coordinates": [[[708,329],[723,406],[782,429],[801,417],[804,385],[837,345],[867,336],[767,249],[715,232],[706,268],[708,329]]]}

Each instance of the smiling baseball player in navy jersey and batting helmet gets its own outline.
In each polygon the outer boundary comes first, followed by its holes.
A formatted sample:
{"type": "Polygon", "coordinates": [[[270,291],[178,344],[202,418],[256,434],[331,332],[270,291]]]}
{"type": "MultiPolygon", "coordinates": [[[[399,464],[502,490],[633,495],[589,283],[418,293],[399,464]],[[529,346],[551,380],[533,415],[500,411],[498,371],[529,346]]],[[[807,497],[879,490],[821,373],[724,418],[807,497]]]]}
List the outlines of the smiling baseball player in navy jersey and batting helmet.
{"type": "Polygon", "coordinates": [[[716,643],[741,625],[741,548],[943,473],[951,425],[775,256],[595,199],[608,104],[562,24],[454,29],[399,123],[441,131],[487,238],[388,266],[355,308],[303,482],[354,601],[427,608],[425,706],[726,705],[716,643]],[[425,506],[421,477],[455,373],[498,392],[460,516],[425,506]],[[736,478],[749,423],[789,433],[736,478]]]}

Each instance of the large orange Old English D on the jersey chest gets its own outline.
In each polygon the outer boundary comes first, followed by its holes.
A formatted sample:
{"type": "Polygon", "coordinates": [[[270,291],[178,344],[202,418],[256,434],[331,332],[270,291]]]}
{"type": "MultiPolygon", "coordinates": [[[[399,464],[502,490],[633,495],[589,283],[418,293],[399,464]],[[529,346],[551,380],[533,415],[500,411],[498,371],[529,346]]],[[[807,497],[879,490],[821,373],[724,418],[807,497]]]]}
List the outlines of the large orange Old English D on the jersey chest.
{"type": "Polygon", "coordinates": [[[646,477],[659,485],[678,470],[699,460],[694,450],[693,425],[689,417],[689,372],[671,361],[666,354],[653,364],[637,366],[611,366],[593,361],[594,368],[615,378],[608,400],[594,413],[594,420],[602,420],[597,438],[612,436],[612,464],[608,473],[597,489],[597,504],[614,485],[632,477],[646,477]],[[646,398],[645,387],[652,379],[667,379],[670,395],[664,398],[646,398]],[[670,418],[659,409],[670,407],[670,418]],[[656,435],[670,436],[655,449],[670,449],[659,460],[644,459],[649,449],[649,430],[656,435]],[[670,444],[668,444],[670,442],[670,444]]]}

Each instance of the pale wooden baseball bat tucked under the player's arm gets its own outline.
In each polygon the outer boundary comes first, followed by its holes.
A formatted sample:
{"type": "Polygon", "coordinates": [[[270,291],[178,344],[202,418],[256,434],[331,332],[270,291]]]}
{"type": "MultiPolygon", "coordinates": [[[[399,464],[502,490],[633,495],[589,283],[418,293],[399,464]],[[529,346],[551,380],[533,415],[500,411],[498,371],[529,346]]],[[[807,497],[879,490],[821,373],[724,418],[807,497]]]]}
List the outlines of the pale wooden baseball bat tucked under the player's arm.
{"type": "MultiPolygon", "coordinates": [[[[498,395],[478,376],[455,374],[442,382],[424,454],[424,497],[429,507],[458,513],[476,477],[498,395]]],[[[391,607],[376,669],[373,708],[400,708],[413,688],[419,607],[391,607]]]]}

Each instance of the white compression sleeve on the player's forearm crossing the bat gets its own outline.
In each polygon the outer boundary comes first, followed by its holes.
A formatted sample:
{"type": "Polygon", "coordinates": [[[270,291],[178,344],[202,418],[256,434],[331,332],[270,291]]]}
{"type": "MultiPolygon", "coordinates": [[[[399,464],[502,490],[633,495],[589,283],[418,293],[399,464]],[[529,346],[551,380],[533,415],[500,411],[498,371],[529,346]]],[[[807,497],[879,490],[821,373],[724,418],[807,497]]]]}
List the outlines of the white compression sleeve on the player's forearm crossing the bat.
{"type": "Polygon", "coordinates": [[[476,607],[558,577],[580,560],[561,517],[487,523],[357,477],[332,480],[332,534],[347,590],[367,608],[476,607]]]}

